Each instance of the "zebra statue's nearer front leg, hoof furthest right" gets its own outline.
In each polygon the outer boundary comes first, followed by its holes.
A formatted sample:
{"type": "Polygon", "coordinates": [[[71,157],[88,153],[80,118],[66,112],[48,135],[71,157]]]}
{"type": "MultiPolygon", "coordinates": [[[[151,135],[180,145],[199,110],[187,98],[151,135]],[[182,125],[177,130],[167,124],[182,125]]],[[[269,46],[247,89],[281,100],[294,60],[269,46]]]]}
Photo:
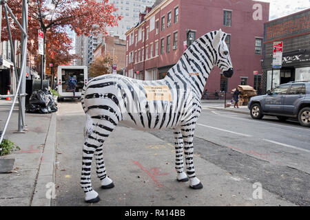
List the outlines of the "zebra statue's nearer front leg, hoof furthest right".
{"type": "Polygon", "coordinates": [[[182,126],[181,132],[183,135],[184,141],[184,153],[185,153],[185,162],[186,162],[186,173],[189,177],[190,184],[189,186],[194,189],[203,188],[203,184],[201,184],[200,180],[196,177],[195,169],[194,169],[194,146],[193,146],[193,139],[194,139],[194,131],[195,125],[191,124],[189,126],[182,126]]]}

